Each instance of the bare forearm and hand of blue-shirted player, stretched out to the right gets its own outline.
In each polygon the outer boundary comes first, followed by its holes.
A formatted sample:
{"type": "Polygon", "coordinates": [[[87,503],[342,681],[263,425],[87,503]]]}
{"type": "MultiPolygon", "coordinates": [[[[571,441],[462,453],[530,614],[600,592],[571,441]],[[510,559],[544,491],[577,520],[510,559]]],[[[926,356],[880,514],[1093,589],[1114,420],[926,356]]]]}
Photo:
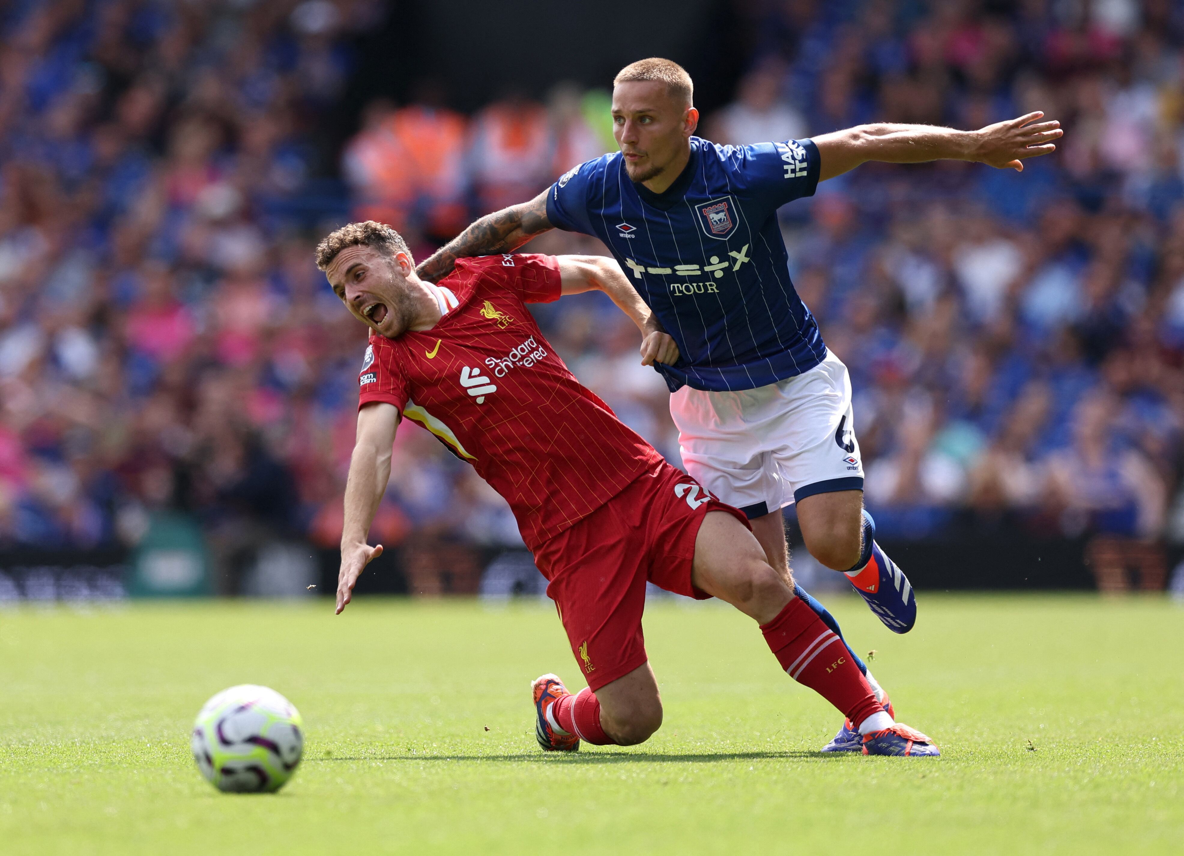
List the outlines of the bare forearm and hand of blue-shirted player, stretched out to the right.
{"type": "Polygon", "coordinates": [[[1043,117],[1043,112],[1030,112],[978,130],[928,124],[861,124],[823,134],[813,137],[822,167],[818,180],[842,175],[868,161],[922,163],[958,160],[1023,172],[1024,159],[1055,152],[1053,141],[1064,134],[1056,120],[1036,122],[1043,117]]]}

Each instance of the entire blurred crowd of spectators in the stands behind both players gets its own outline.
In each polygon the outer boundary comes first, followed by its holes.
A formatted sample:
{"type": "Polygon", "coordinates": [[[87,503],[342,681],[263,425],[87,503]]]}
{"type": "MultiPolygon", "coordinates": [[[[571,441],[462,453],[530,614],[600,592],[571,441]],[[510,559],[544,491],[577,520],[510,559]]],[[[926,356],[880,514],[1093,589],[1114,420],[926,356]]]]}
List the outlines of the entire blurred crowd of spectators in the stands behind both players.
{"type": "MultiPolygon", "coordinates": [[[[851,371],[889,536],[1092,536],[1102,585],[1184,541],[1184,9],[1172,0],[738,0],[723,143],[1043,110],[1023,173],[869,165],[781,212],[794,283],[851,371]],[[1111,568],[1107,571],[1106,568],[1111,568]],[[1118,569],[1115,569],[1118,568],[1118,569]],[[1111,574],[1107,578],[1106,574],[1111,574]]],[[[311,264],[345,215],[417,256],[613,150],[606,91],[474,115],[430,79],[341,150],[371,0],[24,0],[0,11],[0,545],[135,545],[200,521],[220,566],[332,547],[365,330],[311,264]],[[292,201],[340,175],[348,208],[292,201]],[[301,208],[303,211],[303,208],[301,208]]],[[[561,78],[561,73],[554,75],[561,78]]],[[[552,232],[538,252],[604,252],[552,232]]],[[[665,386],[599,295],[539,308],[575,374],[678,463],[665,386]]],[[[387,545],[520,546],[508,508],[405,425],[387,545]]]]}

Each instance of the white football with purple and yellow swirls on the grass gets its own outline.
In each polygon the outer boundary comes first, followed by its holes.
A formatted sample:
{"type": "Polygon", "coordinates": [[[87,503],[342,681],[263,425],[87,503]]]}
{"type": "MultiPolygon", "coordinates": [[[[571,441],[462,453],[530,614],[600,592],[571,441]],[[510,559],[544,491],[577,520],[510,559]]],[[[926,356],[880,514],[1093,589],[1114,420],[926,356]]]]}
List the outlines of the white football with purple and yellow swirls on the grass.
{"type": "Polygon", "coordinates": [[[300,712],[266,687],[244,683],[206,702],[193,723],[193,760],[219,791],[278,791],[304,751],[300,712]]]}

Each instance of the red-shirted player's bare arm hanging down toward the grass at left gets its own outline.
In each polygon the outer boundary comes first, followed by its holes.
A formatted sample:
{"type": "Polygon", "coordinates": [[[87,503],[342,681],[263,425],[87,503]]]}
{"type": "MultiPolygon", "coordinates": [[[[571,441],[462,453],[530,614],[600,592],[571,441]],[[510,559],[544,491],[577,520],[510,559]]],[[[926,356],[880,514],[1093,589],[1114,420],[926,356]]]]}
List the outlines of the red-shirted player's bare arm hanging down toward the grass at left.
{"type": "Polygon", "coordinates": [[[399,426],[399,408],[375,401],[358,411],[358,438],[346,480],[346,523],[341,529],[341,571],[337,572],[337,612],[353,599],[358,578],[382,545],[371,547],[366,535],[391,478],[391,446],[399,426]]]}

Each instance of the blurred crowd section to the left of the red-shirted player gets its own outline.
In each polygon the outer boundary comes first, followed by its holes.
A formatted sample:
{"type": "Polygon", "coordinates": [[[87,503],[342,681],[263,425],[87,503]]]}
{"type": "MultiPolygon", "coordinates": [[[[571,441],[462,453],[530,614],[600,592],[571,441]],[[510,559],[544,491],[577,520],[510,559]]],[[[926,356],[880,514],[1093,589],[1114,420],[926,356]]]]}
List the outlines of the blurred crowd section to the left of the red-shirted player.
{"type": "Polygon", "coordinates": [[[172,510],[230,561],[340,494],[365,335],[290,210],[382,14],[0,6],[0,546],[130,546],[172,510]]]}

